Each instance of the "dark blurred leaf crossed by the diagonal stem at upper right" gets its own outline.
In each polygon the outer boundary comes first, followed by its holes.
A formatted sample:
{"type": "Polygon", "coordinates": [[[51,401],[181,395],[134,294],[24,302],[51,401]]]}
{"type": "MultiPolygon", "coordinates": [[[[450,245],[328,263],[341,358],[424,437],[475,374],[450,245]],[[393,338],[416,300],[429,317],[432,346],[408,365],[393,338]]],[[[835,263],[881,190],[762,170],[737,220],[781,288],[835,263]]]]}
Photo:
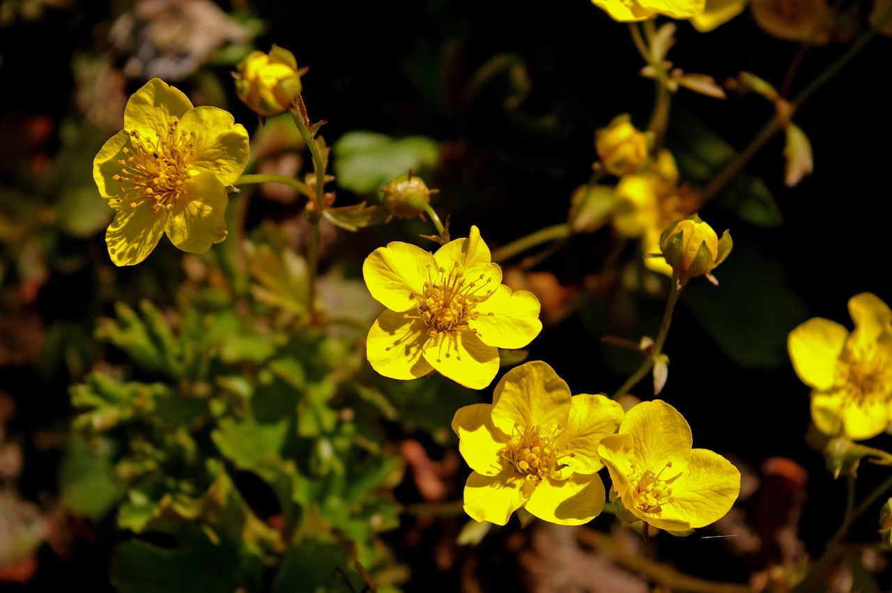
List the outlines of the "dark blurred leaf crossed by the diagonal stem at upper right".
{"type": "MultiPolygon", "coordinates": [[[[706,186],[737,152],[690,111],[673,109],[667,140],[682,177],[706,186]]],[[[715,202],[757,226],[780,226],[777,202],[762,179],[741,171],[725,186],[715,202]]]]}

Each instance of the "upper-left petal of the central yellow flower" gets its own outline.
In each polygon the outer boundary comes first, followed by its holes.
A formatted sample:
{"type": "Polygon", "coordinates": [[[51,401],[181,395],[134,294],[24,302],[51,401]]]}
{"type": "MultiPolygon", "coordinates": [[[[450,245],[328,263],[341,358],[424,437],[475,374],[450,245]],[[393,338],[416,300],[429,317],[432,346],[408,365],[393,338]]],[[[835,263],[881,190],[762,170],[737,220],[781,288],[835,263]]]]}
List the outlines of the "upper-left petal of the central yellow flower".
{"type": "Polygon", "coordinates": [[[362,264],[372,298],[387,309],[408,311],[418,304],[416,293],[424,290],[432,274],[437,274],[437,262],[430,252],[394,241],[372,251],[362,264]]]}

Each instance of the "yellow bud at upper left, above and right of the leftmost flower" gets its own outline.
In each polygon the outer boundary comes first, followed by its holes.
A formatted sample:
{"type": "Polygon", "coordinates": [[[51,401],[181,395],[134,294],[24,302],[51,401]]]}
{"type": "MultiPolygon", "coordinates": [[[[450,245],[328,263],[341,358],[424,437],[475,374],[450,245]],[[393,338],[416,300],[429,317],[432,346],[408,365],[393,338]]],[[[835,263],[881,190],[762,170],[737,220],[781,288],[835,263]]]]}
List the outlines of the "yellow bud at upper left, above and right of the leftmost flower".
{"type": "Polygon", "coordinates": [[[254,51],[236,66],[235,94],[261,117],[285,113],[301,95],[301,76],[294,54],[273,45],[269,54],[254,51]]]}

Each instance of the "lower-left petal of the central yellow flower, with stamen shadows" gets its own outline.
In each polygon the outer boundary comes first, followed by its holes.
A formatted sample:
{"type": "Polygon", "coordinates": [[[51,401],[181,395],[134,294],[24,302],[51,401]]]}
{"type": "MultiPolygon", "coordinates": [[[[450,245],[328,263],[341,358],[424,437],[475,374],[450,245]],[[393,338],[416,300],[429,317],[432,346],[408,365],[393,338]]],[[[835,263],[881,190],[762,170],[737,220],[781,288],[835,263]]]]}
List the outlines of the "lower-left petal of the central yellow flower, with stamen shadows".
{"type": "Polygon", "coordinates": [[[366,356],[378,373],[392,379],[416,379],[434,370],[422,356],[429,339],[421,319],[385,310],[368,330],[366,356]]]}

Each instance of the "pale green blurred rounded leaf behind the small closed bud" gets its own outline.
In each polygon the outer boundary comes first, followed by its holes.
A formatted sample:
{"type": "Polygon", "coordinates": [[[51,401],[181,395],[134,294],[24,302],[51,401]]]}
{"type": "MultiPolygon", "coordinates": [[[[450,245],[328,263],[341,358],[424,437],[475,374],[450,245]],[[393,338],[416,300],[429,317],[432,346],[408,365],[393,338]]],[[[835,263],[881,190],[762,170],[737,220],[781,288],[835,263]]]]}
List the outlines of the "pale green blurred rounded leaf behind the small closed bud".
{"type": "Polygon", "coordinates": [[[433,168],[439,158],[437,144],[425,136],[396,139],[365,130],[344,134],[333,150],[338,185],[376,197],[393,177],[409,170],[421,173],[433,168]]]}

